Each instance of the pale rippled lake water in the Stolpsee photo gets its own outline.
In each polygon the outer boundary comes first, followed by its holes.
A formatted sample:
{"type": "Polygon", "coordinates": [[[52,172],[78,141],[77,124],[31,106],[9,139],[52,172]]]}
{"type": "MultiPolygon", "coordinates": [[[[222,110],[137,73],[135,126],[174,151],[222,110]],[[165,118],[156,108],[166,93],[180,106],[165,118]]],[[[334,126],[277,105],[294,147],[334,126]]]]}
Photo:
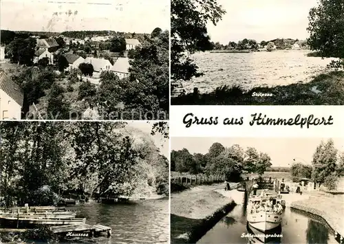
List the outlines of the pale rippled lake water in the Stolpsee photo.
{"type": "Polygon", "coordinates": [[[182,82],[173,96],[183,89],[186,93],[198,87],[200,93],[213,91],[224,85],[241,85],[244,89],[255,86],[273,87],[296,82],[309,82],[313,76],[325,71],[326,65],[335,58],[308,57],[310,51],[252,52],[248,54],[225,54],[200,52],[192,58],[204,72],[204,76],[192,82],[182,82]]]}

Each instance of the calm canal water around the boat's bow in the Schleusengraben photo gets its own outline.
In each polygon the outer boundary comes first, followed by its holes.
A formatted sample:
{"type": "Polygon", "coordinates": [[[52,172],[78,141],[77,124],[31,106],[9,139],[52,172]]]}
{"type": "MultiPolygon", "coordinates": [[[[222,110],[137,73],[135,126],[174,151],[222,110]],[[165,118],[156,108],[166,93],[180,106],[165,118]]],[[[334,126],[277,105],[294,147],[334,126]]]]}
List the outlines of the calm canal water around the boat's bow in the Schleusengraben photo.
{"type": "Polygon", "coordinates": [[[246,209],[237,205],[197,243],[337,243],[334,232],[323,219],[286,208],[280,228],[264,238],[264,233],[250,228],[246,209]]]}

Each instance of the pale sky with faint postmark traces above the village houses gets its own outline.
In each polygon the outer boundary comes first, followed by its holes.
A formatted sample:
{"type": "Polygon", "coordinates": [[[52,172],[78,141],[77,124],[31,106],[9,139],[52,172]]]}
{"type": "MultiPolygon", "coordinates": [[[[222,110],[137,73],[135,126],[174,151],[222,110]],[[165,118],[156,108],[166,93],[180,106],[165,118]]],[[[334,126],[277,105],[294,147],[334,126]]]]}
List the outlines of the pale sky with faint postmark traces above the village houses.
{"type": "Polygon", "coordinates": [[[169,30],[169,0],[1,0],[0,4],[2,30],[169,30]]]}

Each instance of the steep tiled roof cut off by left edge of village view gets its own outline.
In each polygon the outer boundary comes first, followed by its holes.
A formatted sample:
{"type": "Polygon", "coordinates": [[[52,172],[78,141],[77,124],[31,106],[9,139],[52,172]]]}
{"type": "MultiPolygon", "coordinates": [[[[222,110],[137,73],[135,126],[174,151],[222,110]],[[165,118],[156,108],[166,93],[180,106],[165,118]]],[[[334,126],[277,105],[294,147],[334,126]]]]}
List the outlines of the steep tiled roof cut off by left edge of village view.
{"type": "Polygon", "coordinates": [[[10,77],[6,76],[3,71],[0,71],[0,89],[23,107],[24,94],[21,88],[10,77]]]}

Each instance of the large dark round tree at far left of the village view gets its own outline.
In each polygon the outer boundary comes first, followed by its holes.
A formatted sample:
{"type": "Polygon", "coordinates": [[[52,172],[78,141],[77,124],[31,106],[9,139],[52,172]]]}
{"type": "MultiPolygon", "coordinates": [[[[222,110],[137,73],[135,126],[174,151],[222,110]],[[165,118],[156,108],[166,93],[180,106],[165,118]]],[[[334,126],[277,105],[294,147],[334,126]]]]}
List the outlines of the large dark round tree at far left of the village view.
{"type": "Polygon", "coordinates": [[[11,63],[31,66],[34,60],[36,40],[33,38],[17,38],[6,46],[6,57],[11,63]]]}

